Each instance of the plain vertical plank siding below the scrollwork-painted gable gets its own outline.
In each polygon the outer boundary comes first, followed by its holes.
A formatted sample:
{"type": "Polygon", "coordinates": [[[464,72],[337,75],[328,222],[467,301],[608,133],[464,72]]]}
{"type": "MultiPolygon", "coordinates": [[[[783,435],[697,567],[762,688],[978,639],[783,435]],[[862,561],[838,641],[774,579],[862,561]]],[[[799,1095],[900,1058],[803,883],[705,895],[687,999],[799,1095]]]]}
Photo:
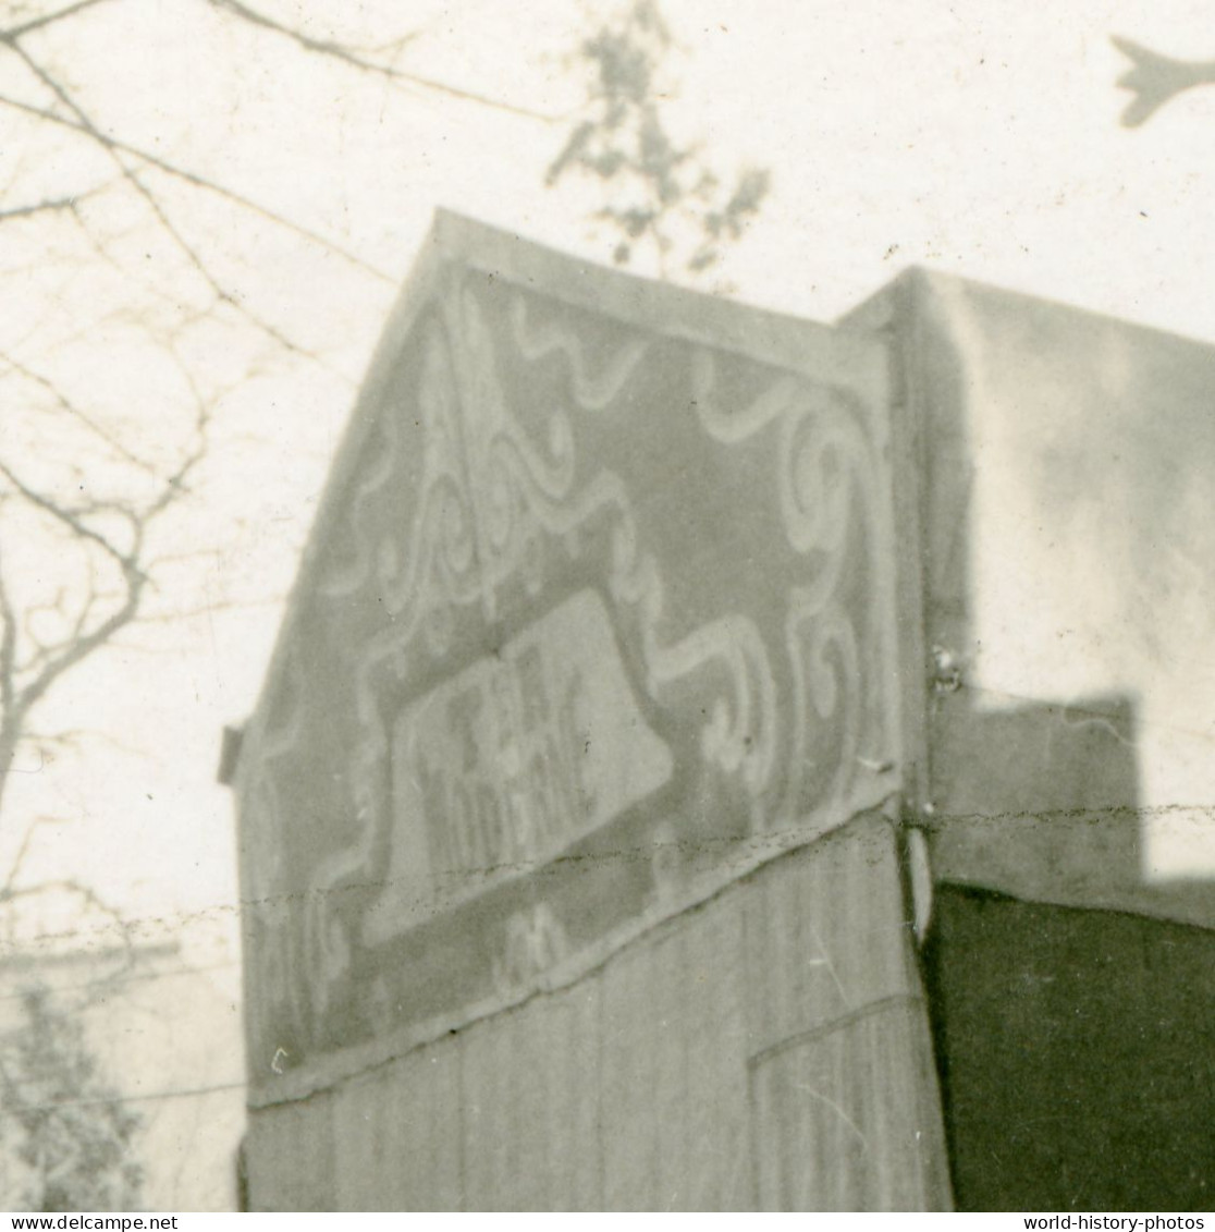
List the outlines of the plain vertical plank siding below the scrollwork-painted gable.
{"type": "Polygon", "coordinates": [[[571,988],[251,1115],[262,1210],[949,1204],[894,833],[874,814],[571,988]]]}

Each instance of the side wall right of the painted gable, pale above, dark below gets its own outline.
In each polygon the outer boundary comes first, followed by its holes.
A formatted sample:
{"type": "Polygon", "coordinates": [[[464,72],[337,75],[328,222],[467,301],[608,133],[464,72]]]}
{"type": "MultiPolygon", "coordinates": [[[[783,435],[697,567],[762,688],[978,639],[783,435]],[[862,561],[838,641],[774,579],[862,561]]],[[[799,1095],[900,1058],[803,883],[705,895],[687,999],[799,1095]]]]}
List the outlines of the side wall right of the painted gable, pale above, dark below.
{"type": "Polygon", "coordinates": [[[1215,896],[1144,869],[1215,798],[1215,349],[922,271],[846,324],[905,376],[958,1209],[1208,1210],[1215,896]]]}

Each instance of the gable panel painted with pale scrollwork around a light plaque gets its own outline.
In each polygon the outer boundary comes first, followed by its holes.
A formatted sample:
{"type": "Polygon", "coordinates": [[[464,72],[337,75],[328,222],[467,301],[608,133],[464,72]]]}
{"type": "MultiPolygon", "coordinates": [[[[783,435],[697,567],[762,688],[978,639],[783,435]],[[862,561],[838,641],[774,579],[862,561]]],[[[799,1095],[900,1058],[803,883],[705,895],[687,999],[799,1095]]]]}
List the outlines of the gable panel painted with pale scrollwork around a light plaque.
{"type": "Polygon", "coordinates": [[[883,375],[502,243],[411,292],[246,739],[255,1100],[574,978],[896,787],[883,375]]]}

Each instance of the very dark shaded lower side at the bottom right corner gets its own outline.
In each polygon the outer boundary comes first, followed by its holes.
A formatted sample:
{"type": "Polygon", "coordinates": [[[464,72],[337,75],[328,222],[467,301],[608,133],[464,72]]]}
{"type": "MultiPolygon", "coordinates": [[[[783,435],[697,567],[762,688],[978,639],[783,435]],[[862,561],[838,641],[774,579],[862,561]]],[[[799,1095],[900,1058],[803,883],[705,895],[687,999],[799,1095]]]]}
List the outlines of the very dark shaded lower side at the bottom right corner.
{"type": "Polygon", "coordinates": [[[924,975],[958,1210],[1210,1210],[1215,934],[940,885],[924,975]]]}

